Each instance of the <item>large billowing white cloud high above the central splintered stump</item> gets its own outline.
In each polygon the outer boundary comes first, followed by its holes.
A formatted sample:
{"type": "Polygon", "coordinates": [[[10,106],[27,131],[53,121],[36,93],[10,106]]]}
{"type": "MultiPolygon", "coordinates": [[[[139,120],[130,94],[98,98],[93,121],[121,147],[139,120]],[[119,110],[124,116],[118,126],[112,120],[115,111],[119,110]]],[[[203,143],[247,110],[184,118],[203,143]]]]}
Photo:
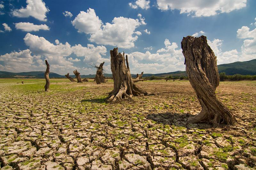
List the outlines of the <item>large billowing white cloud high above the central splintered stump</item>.
{"type": "Polygon", "coordinates": [[[122,48],[134,47],[134,42],[140,35],[136,28],[144,22],[142,15],[139,19],[115,17],[112,23],[103,24],[96,16],[94,9],[89,8],[87,12],[81,11],[72,21],[73,26],[78,32],[90,34],[89,40],[103,45],[113,45],[122,48]],[[134,35],[136,34],[136,35],[134,35]]]}

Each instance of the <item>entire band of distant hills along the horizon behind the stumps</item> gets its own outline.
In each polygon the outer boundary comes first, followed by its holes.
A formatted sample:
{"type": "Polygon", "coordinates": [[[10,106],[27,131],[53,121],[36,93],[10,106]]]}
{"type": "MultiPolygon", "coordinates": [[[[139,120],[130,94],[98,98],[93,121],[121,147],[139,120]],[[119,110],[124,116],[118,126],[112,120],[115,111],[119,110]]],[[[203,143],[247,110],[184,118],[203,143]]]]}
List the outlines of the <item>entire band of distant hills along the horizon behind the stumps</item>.
{"type": "MultiPolygon", "coordinates": [[[[229,64],[220,64],[218,65],[219,73],[225,72],[226,75],[256,75],[256,59],[250,61],[237,61],[229,64]]],[[[150,76],[157,77],[167,77],[169,75],[172,76],[187,76],[186,71],[174,71],[169,73],[158,73],[158,74],[143,74],[143,77],[150,76]]],[[[71,77],[75,77],[75,75],[70,75],[71,77]]],[[[112,77],[112,74],[104,74],[105,77],[112,77]]],[[[57,73],[50,72],[51,78],[64,78],[64,75],[59,75],[57,73]]],[[[95,74],[89,75],[81,75],[82,78],[94,78],[95,74]]],[[[132,74],[132,77],[136,77],[136,74],[132,74]]],[[[22,73],[11,73],[7,71],[0,71],[0,78],[44,78],[44,71],[30,71],[30,72],[22,72],[22,73]]]]}

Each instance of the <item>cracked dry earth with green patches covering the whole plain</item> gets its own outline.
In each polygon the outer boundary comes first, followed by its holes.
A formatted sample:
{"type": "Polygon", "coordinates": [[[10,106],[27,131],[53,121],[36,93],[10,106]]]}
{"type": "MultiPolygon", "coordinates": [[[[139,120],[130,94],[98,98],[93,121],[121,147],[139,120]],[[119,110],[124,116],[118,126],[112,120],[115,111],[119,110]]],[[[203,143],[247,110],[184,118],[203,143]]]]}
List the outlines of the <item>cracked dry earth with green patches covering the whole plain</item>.
{"type": "Polygon", "coordinates": [[[200,112],[188,81],[144,81],[156,96],[105,103],[113,82],[0,80],[3,170],[249,170],[256,167],[256,81],[221,82],[237,125],[186,125],[200,112]]]}

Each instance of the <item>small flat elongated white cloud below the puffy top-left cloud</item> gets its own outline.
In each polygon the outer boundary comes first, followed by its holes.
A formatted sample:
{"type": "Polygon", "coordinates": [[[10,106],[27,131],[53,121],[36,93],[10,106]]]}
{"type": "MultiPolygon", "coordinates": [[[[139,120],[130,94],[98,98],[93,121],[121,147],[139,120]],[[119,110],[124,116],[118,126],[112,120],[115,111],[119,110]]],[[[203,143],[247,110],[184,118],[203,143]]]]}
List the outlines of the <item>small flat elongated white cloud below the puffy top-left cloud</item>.
{"type": "Polygon", "coordinates": [[[50,30],[46,24],[34,25],[30,22],[19,22],[15,23],[15,28],[17,30],[22,30],[26,32],[39,31],[39,30],[50,30]]]}

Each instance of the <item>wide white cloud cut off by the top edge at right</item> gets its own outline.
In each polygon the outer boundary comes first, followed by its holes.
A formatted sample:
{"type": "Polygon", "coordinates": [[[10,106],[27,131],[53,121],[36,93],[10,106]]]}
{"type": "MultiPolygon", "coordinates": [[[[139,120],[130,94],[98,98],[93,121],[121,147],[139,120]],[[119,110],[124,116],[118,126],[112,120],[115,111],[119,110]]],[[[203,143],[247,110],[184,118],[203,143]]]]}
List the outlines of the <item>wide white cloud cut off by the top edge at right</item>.
{"type": "Polygon", "coordinates": [[[247,0],[157,0],[160,10],[180,10],[195,17],[214,16],[246,7],[247,0]]]}

